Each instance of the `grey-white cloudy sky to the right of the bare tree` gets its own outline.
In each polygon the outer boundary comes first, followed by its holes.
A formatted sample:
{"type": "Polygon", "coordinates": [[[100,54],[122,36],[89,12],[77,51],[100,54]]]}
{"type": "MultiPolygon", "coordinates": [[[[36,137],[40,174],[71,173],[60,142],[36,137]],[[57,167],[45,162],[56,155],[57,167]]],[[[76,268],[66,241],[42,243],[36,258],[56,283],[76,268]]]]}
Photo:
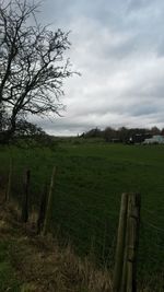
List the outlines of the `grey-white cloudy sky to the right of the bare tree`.
{"type": "Polygon", "coordinates": [[[37,120],[52,135],[94,127],[164,127],[164,1],[44,0],[42,22],[71,31],[81,72],[65,83],[63,117],[37,120]]]}

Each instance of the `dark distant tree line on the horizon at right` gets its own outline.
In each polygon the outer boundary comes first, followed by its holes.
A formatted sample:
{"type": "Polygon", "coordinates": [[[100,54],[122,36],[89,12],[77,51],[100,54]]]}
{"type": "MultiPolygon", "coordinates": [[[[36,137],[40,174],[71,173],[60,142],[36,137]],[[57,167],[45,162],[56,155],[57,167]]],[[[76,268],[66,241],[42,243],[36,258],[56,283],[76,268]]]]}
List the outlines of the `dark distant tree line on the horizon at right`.
{"type": "Polygon", "coordinates": [[[81,137],[83,138],[103,138],[107,142],[142,142],[145,138],[151,138],[154,135],[163,135],[164,128],[160,130],[157,127],[148,128],[126,128],[120,127],[119,129],[114,129],[112,127],[106,127],[104,130],[98,128],[93,128],[86,132],[83,132],[81,137]]]}

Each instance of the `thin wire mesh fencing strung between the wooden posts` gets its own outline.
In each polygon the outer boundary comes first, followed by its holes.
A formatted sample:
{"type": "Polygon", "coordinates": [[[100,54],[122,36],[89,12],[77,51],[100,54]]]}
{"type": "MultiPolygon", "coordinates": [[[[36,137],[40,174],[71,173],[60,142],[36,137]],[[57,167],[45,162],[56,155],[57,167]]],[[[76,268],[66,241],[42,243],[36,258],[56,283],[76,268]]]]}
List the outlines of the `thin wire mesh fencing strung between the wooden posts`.
{"type": "MultiPolygon", "coordinates": [[[[2,174],[0,187],[4,192],[8,183],[8,174],[2,174]]],[[[38,211],[42,189],[43,185],[31,186],[31,210],[38,211]]],[[[92,256],[97,265],[113,267],[120,197],[108,194],[106,200],[106,196],[102,196],[99,190],[87,187],[87,200],[86,196],[83,196],[85,191],[85,186],[80,188],[74,182],[70,185],[57,183],[51,206],[50,230],[65,244],[71,242],[77,253],[92,256]]],[[[21,205],[22,177],[12,177],[10,192],[21,205]]],[[[163,291],[164,279],[163,206],[160,206],[159,213],[144,206],[142,208],[138,258],[141,287],[149,282],[154,287],[153,291],[157,292],[163,291]]]]}

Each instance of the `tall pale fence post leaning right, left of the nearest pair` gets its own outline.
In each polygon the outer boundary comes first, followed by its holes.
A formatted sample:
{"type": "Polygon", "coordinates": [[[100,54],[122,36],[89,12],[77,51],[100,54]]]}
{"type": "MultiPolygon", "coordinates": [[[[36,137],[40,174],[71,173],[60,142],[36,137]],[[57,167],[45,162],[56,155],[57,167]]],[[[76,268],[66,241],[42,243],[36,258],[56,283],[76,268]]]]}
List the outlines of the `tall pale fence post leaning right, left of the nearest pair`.
{"type": "Polygon", "coordinates": [[[47,234],[47,231],[48,231],[48,227],[49,227],[49,218],[50,218],[50,209],[51,209],[51,199],[52,199],[55,175],[56,175],[56,166],[54,166],[54,168],[52,168],[52,174],[51,174],[51,179],[50,179],[50,187],[49,187],[49,194],[48,194],[48,200],[47,200],[47,208],[46,208],[46,214],[45,214],[44,226],[43,226],[43,235],[47,234]]]}

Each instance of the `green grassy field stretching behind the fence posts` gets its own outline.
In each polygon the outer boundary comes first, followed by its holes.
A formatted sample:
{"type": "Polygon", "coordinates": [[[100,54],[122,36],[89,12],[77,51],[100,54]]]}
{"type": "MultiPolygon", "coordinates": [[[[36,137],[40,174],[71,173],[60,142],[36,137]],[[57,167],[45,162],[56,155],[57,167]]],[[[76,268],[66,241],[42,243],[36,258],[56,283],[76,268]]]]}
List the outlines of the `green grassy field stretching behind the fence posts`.
{"type": "Polygon", "coordinates": [[[21,201],[22,176],[31,168],[31,203],[37,209],[44,185],[57,165],[51,232],[70,241],[80,255],[113,266],[120,196],[142,197],[139,278],[162,291],[164,270],[164,147],[105,142],[61,142],[44,148],[0,149],[1,185],[13,156],[12,195],[21,201]],[[152,276],[153,275],[153,276],[152,276]]]}

